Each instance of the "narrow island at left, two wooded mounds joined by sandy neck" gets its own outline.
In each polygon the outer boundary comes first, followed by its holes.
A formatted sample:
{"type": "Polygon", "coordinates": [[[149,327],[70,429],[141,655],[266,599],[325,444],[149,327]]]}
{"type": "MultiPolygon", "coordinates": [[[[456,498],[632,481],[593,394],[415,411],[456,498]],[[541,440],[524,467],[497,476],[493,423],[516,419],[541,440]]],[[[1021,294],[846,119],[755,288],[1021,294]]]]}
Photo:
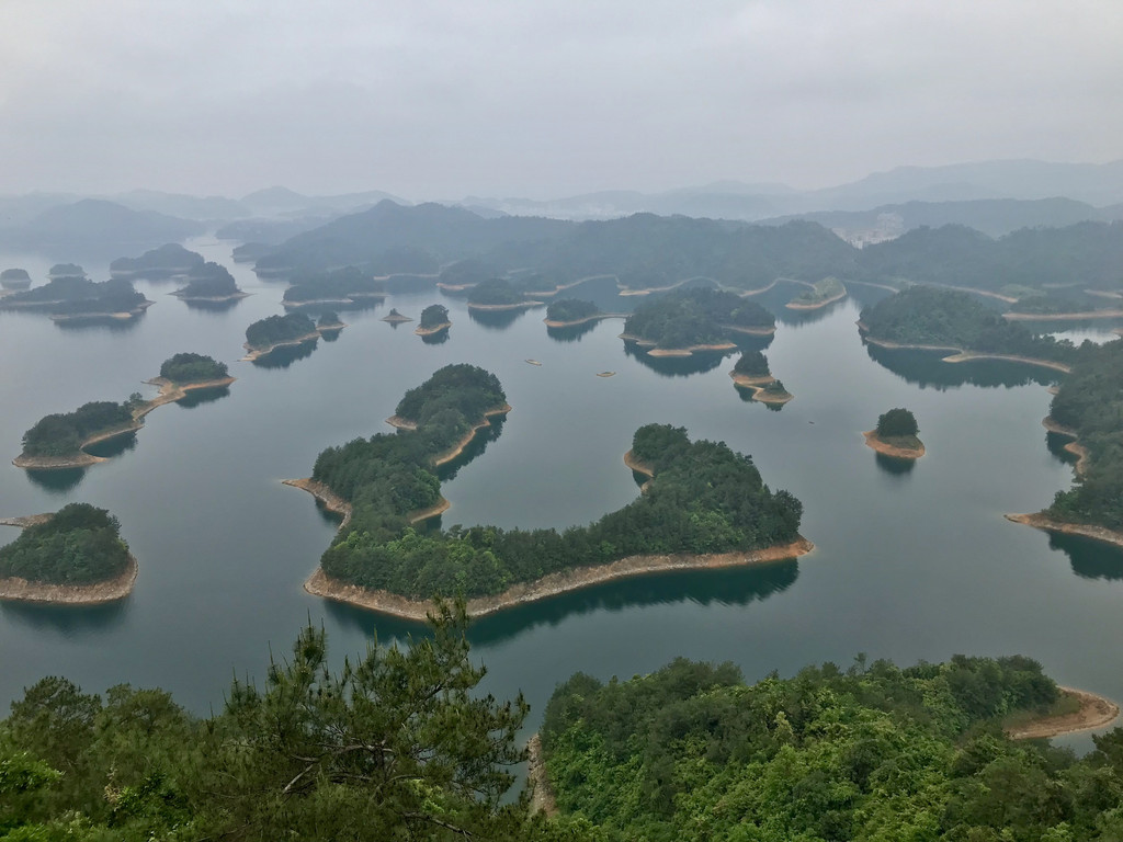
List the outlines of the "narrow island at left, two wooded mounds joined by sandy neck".
{"type": "Polygon", "coordinates": [[[150,401],[135,392],[122,403],[91,401],[73,412],[43,417],[24,433],[24,450],[12,465],[45,470],[106,461],[85,452],[85,448],[139,430],[144,417],[157,406],[181,401],[189,392],[229,386],[234,378],[225,363],[200,354],[176,354],[164,360],[159,377],[148,383],[159,386],[159,393],[150,401]]]}

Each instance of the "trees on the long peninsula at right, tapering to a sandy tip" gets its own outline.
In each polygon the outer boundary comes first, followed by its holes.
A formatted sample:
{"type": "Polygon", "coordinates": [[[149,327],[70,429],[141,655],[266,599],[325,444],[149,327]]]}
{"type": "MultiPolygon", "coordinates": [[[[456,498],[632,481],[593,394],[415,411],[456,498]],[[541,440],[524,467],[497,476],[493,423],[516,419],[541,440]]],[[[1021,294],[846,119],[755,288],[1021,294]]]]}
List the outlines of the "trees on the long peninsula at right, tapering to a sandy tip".
{"type": "Polygon", "coordinates": [[[1078,356],[1070,341],[1034,336],[976,296],[955,290],[910,286],[862,310],[861,322],[871,339],[901,345],[935,345],[1065,363],[1078,356]]]}

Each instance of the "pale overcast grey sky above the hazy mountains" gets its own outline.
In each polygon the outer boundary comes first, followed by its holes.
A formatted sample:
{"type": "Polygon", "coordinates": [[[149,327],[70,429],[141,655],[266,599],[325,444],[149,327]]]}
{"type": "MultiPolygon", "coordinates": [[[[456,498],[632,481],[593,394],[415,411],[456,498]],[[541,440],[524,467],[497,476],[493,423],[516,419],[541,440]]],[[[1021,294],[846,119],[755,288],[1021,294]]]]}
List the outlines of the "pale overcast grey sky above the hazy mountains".
{"type": "Polygon", "coordinates": [[[1123,158],[1120,0],[0,0],[0,193],[828,186],[1123,158]]]}

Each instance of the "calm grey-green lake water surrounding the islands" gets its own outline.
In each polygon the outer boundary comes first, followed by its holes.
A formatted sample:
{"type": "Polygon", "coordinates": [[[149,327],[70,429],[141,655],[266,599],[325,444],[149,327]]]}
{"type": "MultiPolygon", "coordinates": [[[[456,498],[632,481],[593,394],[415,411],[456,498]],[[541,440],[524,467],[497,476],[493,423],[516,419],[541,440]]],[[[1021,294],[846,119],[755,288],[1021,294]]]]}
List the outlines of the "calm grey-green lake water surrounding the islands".
{"type": "MultiPolygon", "coordinates": [[[[547,335],[542,310],[482,323],[436,290],[341,313],[349,327],[336,341],[287,366],[236,363],[245,328],[282,312],[284,285],[234,264],[234,244],[186,245],[223,263],[253,296],[198,310],[167,294],[175,284],[141,282],[156,305],[113,328],[0,313],[0,515],[72,501],[107,507],[140,562],[136,591],[113,606],[0,604],[0,710],[57,674],[88,690],[161,686],[206,714],[235,674],[259,679],[271,648],[286,653],[309,620],[327,628],[337,660],[375,630],[382,642],[423,634],[302,591],[335,523],[280,481],[309,476],[329,445],[389,431],[383,420],[407,388],[459,361],[494,372],[514,410],[445,483],[446,525],[564,528],[624,505],[638,488],[622,455],[634,429],[654,421],[751,454],[766,483],[803,501],[801,531],[816,544],[798,561],[622,582],[480,621],[471,637],[489,668],[485,689],[522,690],[528,730],[574,671],[630,677],[676,656],[732,660],[752,680],[825,660],[847,666],[858,652],[901,665],[1024,653],[1062,684],[1123,699],[1123,553],[1002,516],[1037,511],[1071,483],[1041,427],[1048,376],[923,355],[875,360],[855,321],[880,293],[855,287],[862,301],[802,320],[779,306],[791,290],[763,302],[786,320],[765,351],[796,396],[777,412],[738,394],[728,376],[736,356],[701,373],[654,370],[626,354],[620,320],[562,341],[547,335]],[[390,306],[417,318],[437,301],[451,311],[447,341],[380,321],[390,306]],[[228,394],[156,410],[119,455],[84,472],[34,476],[9,464],[42,415],[152,395],[141,382],[184,350],[228,361],[238,378],[228,394]],[[595,376],[605,370],[617,374],[595,376]],[[911,469],[862,442],[893,406],[915,412],[928,447],[911,469]]],[[[73,258],[0,255],[0,268],[24,266],[42,283],[56,259],[73,258]]],[[[83,265],[107,276],[108,260],[83,265]]],[[[606,305],[608,292],[591,294],[606,305]]],[[[1096,326],[1094,338],[1105,331],[1096,326]]],[[[16,536],[0,527],[0,542],[16,536]]]]}

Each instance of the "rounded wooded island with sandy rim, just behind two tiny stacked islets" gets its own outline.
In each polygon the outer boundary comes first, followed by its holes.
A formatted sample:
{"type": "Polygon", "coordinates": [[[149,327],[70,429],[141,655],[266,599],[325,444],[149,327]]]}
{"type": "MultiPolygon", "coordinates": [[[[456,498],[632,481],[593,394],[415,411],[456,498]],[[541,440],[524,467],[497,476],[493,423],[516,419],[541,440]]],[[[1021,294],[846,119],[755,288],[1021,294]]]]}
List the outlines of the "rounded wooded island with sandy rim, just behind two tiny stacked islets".
{"type": "Polygon", "coordinates": [[[656,357],[732,350],[737,333],[769,336],[776,318],[755,301],[707,287],[677,290],[645,300],[624,320],[621,338],[656,357]]]}

